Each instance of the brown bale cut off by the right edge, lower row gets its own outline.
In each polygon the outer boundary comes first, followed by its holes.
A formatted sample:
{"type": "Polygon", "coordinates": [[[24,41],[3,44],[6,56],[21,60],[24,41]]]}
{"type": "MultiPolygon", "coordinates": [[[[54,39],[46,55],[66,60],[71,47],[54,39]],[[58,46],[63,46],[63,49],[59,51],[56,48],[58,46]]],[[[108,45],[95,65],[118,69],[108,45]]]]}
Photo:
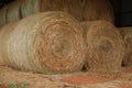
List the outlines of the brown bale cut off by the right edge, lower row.
{"type": "Polygon", "coordinates": [[[132,66],[132,28],[119,28],[125,43],[124,66],[132,66]]]}

